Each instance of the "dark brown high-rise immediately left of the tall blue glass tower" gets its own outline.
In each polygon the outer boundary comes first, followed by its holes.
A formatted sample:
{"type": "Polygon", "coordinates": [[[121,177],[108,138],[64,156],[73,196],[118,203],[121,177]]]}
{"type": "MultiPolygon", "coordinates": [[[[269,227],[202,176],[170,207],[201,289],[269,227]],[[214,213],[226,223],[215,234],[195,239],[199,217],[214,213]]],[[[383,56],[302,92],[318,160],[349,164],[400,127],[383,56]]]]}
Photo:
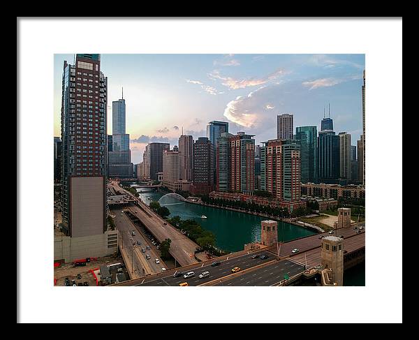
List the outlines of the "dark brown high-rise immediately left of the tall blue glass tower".
{"type": "Polygon", "coordinates": [[[193,143],[193,194],[206,194],[214,190],[214,147],[206,137],[193,143]]]}

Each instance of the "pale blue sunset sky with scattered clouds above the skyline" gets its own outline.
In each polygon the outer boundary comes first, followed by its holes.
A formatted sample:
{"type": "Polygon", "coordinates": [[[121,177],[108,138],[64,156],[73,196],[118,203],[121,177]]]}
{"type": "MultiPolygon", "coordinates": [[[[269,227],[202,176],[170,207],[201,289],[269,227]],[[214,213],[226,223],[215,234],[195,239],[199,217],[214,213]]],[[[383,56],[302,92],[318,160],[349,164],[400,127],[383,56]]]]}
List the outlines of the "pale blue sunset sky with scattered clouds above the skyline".
{"type": "MultiPolygon", "coordinates": [[[[64,60],[54,54],[54,135],[60,135],[64,60]]],[[[149,142],[178,144],[182,128],[206,136],[209,121],[228,121],[229,132],[255,135],[256,144],[277,138],[277,115],[294,115],[297,126],[317,126],[330,103],[336,133],[362,133],[365,54],[101,54],[108,77],[108,134],[112,101],[126,103],[132,162],[149,142]]]]}

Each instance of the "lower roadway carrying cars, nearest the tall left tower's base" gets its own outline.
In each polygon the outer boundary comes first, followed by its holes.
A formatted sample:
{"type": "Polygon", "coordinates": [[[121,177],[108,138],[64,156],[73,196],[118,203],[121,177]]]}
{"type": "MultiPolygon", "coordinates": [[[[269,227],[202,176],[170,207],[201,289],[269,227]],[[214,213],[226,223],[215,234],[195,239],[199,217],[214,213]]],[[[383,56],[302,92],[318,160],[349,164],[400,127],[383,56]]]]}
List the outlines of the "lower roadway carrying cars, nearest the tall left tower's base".
{"type": "MultiPolygon", "coordinates": [[[[132,265],[132,258],[131,256],[135,253],[134,256],[134,271],[137,270],[138,276],[144,276],[142,274],[142,268],[145,269],[144,274],[154,274],[162,272],[163,267],[166,267],[166,264],[160,258],[160,252],[155,249],[152,244],[148,242],[148,239],[144,237],[134,226],[131,220],[126,216],[126,214],[122,213],[122,208],[115,208],[111,210],[112,214],[115,214],[115,226],[120,232],[121,237],[121,244],[124,249],[126,249],[126,256],[128,256],[129,260],[131,261],[127,265],[128,269],[131,269],[132,265]],[[135,230],[135,236],[131,235],[133,230],[135,230]],[[140,245],[137,245],[137,242],[140,242],[140,245]],[[133,243],[135,246],[133,247],[133,243]],[[149,250],[146,250],[145,253],[142,253],[142,248],[146,249],[149,246],[149,250]],[[134,248],[134,251],[133,251],[134,248]],[[147,254],[150,256],[150,259],[147,260],[147,254]],[[156,264],[155,259],[158,258],[160,263],[156,264]]],[[[132,269],[131,269],[132,270],[132,269]]]]}

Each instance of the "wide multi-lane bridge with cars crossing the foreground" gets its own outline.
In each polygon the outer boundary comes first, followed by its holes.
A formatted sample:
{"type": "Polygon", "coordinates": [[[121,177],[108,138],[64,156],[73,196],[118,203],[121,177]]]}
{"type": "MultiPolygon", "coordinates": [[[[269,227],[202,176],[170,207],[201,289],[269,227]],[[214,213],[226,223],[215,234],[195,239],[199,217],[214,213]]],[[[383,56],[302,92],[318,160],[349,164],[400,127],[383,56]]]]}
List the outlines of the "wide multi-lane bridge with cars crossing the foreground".
{"type": "MultiPolygon", "coordinates": [[[[344,269],[349,269],[365,260],[365,229],[355,232],[352,228],[339,228],[336,235],[344,237],[344,269]]],[[[238,251],[226,256],[206,260],[198,264],[169,269],[153,274],[117,283],[113,286],[179,286],[187,282],[189,286],[285,286],[302,277],[313,276],[321,265],[321,237],[328,232],[301,237],[275,246],[238,251]],[[293,253],[292,249],[299,249],[293,253]],[[265,254],[267,259],[261,259],[265,254]],[[257,258],[252,258],[258,255],[257,258]],[[220,265],[212,267],[214,260],[220,265]],[[240,267],[240,272],[232,273],[233,267],[240,267]],[[196,273],[196,277],[184,279],[175,277],[176,272],[196,273]],[[201,272],[210,272],[210,276],[199,279],[201,272]]]]}

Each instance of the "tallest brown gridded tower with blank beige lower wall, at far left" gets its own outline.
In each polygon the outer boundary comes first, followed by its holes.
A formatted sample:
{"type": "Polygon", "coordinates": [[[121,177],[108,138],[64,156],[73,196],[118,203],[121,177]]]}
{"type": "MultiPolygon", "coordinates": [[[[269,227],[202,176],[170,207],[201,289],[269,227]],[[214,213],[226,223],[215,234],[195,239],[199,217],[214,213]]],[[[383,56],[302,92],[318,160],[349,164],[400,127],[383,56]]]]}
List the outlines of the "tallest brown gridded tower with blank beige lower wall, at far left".
{"type": "Polygon", "coordinates": [[[102,235],[107,228],[108,78],[100,68],[100,54],[77,54],[75,65],[64,61],[61,205],[63,230],[71,237],[102,235]]]}

